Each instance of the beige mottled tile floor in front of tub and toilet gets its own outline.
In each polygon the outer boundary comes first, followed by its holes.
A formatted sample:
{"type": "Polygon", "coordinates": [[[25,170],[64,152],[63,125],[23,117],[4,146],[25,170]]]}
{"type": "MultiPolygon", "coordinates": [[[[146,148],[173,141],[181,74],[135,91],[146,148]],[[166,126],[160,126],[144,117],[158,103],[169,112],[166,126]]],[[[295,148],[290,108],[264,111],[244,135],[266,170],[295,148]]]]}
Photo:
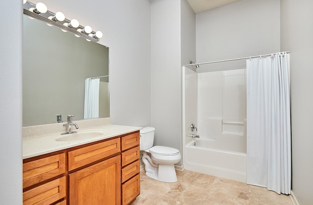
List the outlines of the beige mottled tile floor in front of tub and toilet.
{"type": "Polygon", "coordinates": [[[178,182],[164,183],[141,171],[141,194],[131,205],[292,205],[289,196],[264,187],[188,170],[176,173],[178,182]]]}

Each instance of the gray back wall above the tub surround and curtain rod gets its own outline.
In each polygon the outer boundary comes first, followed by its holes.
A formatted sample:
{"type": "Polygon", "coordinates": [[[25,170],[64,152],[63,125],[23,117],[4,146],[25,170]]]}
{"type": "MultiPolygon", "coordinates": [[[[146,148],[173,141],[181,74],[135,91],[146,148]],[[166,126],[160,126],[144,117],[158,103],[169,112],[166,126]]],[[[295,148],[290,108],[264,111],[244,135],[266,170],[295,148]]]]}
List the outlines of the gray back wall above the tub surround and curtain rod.
{"type": "Polygon", "coordinates": [[[280,0],[241,0],[197,14],[197,63],[280,51],[279,13],[280,0]]]}

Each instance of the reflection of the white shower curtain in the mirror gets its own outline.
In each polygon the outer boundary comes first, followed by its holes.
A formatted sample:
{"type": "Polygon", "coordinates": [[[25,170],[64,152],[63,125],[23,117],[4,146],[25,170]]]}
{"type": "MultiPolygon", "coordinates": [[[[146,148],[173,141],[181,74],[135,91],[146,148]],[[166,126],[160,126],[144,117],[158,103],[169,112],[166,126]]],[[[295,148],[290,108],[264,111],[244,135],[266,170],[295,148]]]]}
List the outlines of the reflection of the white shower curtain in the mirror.
{"type": "Polygon", "coordinates": [[[99,117],[99,84],[99,78],[85,80],[84,118],[99,117]]]}

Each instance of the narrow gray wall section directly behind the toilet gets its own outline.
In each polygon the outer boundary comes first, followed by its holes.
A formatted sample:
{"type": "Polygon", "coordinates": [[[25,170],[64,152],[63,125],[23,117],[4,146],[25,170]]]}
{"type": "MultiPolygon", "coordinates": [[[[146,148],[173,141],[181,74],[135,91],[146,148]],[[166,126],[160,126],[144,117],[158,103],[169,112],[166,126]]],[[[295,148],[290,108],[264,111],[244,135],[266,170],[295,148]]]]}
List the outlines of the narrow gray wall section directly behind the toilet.
{"type": "Polygon", "coordinates": [[[180,149],[180,0],[151,1],[151,125],[155,145],[180,149]]]}

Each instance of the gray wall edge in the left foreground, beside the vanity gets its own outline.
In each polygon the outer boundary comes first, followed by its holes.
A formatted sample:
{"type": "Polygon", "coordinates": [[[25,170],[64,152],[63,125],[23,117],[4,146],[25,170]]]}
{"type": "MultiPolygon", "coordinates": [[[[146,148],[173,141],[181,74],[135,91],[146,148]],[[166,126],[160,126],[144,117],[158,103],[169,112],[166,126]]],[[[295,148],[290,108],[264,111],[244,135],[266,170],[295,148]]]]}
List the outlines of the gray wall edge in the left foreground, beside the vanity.
{"type": "Polygon", "coordinates": [[[22,204],[22,1],[0,8],[0,199],[22,204]]]}

